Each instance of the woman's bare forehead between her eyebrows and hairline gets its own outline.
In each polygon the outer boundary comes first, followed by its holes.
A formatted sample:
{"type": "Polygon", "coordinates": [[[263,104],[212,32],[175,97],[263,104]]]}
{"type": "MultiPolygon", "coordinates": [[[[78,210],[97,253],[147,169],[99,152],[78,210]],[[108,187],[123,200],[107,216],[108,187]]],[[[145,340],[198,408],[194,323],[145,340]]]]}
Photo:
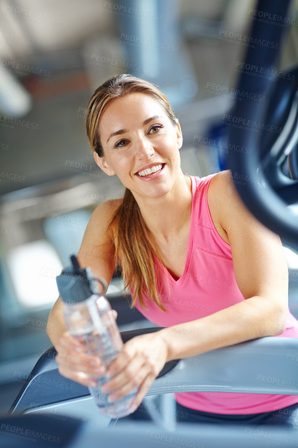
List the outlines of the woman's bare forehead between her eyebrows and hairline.
{"type": "Polygon", "coordinates": [[[125,128],[142,125],[153,115],[165,116],[166,111],[158,101],[143,93],[131,93],[112,99],[106,106],[100,120],[101,133],[108,133],[125,125],[125,128]]]}

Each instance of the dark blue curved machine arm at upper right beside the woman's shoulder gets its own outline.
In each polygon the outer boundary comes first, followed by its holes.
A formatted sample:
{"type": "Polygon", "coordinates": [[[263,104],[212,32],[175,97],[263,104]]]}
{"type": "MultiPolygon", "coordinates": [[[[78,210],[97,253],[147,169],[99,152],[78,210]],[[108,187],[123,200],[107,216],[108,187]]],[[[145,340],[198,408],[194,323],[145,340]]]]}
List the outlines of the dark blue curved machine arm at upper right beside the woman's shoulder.
{"type": "MultiPolygon", "coordinates": [[[[289,17],[289,4],[290,0],[260,0],[255,9],[271,17],[289,17]]],[[[298,250],[298,213],[293,206],[298,202],[298,67],[267,79],[270,73],[279,73],[276,64],[284,30],[268,22],[253,22],[245,59],[248,69],[236,87],[251,95],[243,95],[224,116],[232,148],[250,149],[230,150],[228,168],[251,213],[285,245],[298,250]],[[251,67],[262,67],[267,76],[252,76],[251,67]]]]}

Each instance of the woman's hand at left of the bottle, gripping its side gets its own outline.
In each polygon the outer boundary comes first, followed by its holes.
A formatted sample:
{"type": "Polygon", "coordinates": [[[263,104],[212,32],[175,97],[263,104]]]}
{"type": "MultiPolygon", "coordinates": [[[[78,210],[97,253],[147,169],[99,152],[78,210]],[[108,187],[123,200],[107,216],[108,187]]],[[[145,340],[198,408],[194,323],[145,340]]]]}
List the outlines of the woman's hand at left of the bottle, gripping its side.
{"type": "MultiPolygon", "coordinates": [[[[116,319],[117,312],[112,310],[116,319]]],[[[105,374],[105,367],[98,356],[87,353],[87,348],[69,332],[64,332],[55,345],[59,373],[86,387],[96,387],[96,378],[105,374]]]]}

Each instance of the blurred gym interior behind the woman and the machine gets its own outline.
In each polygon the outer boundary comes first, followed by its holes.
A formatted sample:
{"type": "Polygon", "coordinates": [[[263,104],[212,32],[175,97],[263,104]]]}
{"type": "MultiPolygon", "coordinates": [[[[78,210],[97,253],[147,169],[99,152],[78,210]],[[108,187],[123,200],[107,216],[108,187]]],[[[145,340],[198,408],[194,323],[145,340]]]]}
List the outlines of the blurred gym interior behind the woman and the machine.
{"type": "MultiPolygon", "coordinates": [[[[0,1],[0,414],[52,345],[46,323],[59,296],[55,276],[77,253],[94,208],[124,193],[119,178],[94,163],[84,128],[90,95],[119,73],[157,84],[182,126],[182,171],[204,177],[226,169],[222,117],[238,100],[229,92],[254,7],[251,0],[0,1]]],[[[280,70],[298,61],[297,24],[280,70]]],[[[298,255],[285,254],[298,318],[298,255]]],[[[129,309],[122,288],[118,274],[107,294],[120,330],[153,326],[129,309]]]]}

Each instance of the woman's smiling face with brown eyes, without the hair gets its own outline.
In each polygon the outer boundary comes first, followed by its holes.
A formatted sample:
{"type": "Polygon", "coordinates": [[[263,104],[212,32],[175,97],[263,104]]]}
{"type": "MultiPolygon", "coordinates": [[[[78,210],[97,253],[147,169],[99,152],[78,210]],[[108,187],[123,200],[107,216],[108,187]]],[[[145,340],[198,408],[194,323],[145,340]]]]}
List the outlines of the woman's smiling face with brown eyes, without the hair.
{"type": "Polygon", "coordinates": [[[116,174],[137,195],[158,198],[170,191],[181,169],[182,135],[178,120],[173,125],[155,99],[132,93],[111,100],[98,130],[104,156],[94,151],[94,159],[106,174],[116,174]],[[140,176],[148,165],[157,171],[140,176]]]}

